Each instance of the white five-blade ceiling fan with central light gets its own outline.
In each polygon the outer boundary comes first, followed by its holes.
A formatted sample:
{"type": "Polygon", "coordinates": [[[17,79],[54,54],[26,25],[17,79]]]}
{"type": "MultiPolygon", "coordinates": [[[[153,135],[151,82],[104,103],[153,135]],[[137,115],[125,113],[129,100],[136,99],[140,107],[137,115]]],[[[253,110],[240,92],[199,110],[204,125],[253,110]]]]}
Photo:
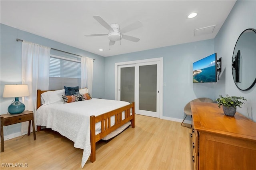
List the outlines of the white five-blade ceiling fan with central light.
{"type": "Polygon", "coordinates": [[[142,23],[140,21],[134,22],[133,24],[130,24],[122,29],[120,29],[119,24],[108,24],[105,20],[103,20],[100,16],[93,16],[95,20],[97,20],[102,26],[104,26],[109,32],[108,34],[90,34],[90,35],[84,35],[84,36],[108,36],[109,45],[112,46],[115,44],[116,41],[123,39],[132,41],[132,42],[138,42],[140,39],[124,35],[123,33],[135,30],[137,28],[142,27],[142,23]]]}

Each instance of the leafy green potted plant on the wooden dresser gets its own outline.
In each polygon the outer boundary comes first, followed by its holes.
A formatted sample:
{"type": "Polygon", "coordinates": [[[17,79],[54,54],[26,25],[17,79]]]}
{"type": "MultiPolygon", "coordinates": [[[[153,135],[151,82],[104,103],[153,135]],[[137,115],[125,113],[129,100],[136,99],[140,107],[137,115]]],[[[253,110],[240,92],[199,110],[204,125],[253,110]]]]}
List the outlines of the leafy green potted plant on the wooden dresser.
{"type": "Polygon", "coordinates": [[[244,97],[238,97],[238,96],[228,96],[226,94],[226,97],[223,97],[220,95],[220,98],[217,98],[216,101],[218,103],[218,107],[222,106],[223,112],[227,116],[234,116],[236,114],[236,107],[241,107],[244,102],[243,100],[246,100],[244,97]]]}

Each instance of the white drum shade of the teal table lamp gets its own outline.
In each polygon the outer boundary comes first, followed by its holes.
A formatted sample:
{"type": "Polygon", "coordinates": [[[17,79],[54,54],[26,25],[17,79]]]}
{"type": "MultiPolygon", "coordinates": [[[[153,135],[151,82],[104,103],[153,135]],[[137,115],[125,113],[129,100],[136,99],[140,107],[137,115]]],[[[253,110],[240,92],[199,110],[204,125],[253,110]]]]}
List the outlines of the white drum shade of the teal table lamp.
{"type": "Polygon", "coordinates": [[[3,97],[23,97],[29,96],[27,84],[4,85],[3,97]]]}

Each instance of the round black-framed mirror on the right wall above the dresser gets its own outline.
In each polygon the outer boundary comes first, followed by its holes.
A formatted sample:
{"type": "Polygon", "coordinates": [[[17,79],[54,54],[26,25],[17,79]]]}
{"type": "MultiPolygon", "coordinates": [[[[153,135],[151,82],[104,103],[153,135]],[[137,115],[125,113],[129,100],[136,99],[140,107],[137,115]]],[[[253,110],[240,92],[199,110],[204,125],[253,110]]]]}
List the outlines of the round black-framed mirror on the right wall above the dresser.
{"type": "Polygon", "coordinates": [[[256,82],[256,30],[244,30],[238,40],[232,57],[232,74],[240,90],[249,90],[256,82]]]}

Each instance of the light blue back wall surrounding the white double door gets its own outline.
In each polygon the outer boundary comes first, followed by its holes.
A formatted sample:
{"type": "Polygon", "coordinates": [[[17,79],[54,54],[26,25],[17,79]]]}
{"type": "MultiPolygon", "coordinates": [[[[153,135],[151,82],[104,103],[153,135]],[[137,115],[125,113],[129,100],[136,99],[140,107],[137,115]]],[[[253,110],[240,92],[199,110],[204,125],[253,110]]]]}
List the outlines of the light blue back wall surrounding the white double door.
{"type": "Polygon", "coordinates": [[[115,63],[163,57],[163,116],[183,119],[192,99],[214,99],[216,83],[192,82],[192,63],[214,53],[214,39],[110,56],[105,59],[105,98],[115,99],[115,63]]]}

